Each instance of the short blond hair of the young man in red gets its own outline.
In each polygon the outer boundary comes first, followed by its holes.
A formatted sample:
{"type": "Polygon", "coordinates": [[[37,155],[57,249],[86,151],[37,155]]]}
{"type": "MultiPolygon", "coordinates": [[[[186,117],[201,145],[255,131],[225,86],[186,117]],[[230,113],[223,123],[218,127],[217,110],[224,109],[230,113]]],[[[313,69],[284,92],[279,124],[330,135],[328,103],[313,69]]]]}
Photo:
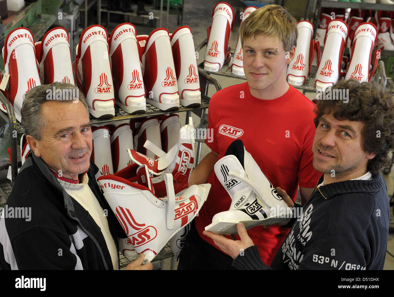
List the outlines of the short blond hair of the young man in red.
{"type": "Polygon", "coordinates": [[[242,46],[245,38],[256,35],[278,38],[286,52],[297,46],[297,20],[285,8],[275,4],[253,11],[243,20],[239,32],[242,46]]]}

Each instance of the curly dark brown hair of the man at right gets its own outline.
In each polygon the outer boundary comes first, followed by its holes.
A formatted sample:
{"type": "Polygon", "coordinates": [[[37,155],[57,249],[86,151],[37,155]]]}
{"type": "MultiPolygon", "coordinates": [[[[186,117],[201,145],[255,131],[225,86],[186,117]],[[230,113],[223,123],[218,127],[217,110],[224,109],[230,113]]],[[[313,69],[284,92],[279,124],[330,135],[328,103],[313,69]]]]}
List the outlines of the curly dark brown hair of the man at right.
{"type": "MultiPolygon", "coordinates": [[[[349,90],[347,100],[317,100],[314,110],[316,127],[323,115],[333,112],[338,120],[361,121],[362,148],[375,157],[368,160],[367,169],[377,173],[390,164],[388,153],[394,148],[394,100],[376,83],[339,80],[333,90],[349,90]]],[[[326,91],[327,93],[327,91],[326,91]]]]}

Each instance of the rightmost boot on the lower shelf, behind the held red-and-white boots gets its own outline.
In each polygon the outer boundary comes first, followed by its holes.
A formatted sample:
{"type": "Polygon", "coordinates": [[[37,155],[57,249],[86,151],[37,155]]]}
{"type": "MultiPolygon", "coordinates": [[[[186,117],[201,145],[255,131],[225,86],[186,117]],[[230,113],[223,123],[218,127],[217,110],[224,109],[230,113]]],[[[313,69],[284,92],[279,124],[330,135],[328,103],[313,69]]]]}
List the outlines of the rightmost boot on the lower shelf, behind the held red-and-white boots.
{"type": "Polygon", "coordinates": [[[180,130],[179,115],[172,114],[166,117],[160,124],[160,135],[162,138],[162,150],[168,152],[178,143],[180,130]]]}

